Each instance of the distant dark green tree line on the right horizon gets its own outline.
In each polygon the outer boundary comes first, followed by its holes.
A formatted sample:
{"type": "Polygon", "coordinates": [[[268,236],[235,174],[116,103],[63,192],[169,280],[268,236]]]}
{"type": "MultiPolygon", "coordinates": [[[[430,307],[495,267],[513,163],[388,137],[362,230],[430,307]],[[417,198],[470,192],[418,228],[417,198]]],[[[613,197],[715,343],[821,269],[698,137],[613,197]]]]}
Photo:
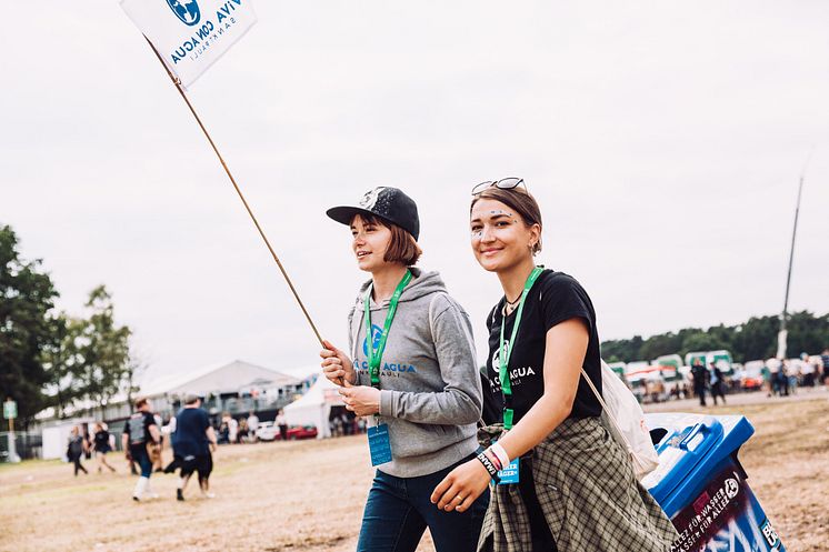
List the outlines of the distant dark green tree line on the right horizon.
{"type": "MultiPolygon", "coordinates": [[[[829,313],[817,317],[809,311],[789,315],[788,355],[819,353],[829,347],[829,313]]],[[[737,325],[713,325],[707,330],[686,328],[678,332],[660,333],[642,339],[605,341],[602,358],[608,362],[653,360],[663,354],[679,353],[685,357],[692,351],[727,349],[736,362],[765,360],[777,353],[777,333],[780,318],[777,315],[752,317],[737,325]]]]}

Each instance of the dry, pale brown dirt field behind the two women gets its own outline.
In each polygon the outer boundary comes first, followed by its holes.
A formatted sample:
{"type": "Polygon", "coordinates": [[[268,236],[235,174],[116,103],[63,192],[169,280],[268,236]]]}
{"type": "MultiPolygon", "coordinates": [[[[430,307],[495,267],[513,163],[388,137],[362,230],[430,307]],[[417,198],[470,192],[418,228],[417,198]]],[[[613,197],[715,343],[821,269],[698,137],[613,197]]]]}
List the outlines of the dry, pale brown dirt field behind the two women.
{"type": "MultiPolygon", "coordinates": [[[[829,550],[827,395],[709,412],[743,414],[757,429],[740,460],[787,550],[829,550]]],[[[0,551],[352,551],[372,476],[364,436],[223,446],[216,499],[192,486],[179,503],[176,478],[157,474],[160,498],[134,503],[134,478],[111,459],[119,473],[88,461],[91,473],[77,479],[57,461],[0,464],[0,551]]],[[[432,550],[428,535],[418,550],[432,550]]]]}

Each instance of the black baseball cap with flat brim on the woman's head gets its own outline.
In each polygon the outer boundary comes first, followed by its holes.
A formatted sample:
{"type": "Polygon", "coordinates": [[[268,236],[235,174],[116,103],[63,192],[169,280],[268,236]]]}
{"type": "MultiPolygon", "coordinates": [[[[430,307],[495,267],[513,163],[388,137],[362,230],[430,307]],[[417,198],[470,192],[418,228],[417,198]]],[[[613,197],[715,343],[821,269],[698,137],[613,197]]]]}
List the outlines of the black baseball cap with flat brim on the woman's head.
{"type": "Polygon", "coordinates": [[[409,232],[414,240],[420,235],[418,205],[414,200],[397,188],[377,187],[366,192],[357,207],[332,207],[326,211],[326,214],[346,225],[351,224],[356,214],[371,214],[397,224],[409,232]]]}

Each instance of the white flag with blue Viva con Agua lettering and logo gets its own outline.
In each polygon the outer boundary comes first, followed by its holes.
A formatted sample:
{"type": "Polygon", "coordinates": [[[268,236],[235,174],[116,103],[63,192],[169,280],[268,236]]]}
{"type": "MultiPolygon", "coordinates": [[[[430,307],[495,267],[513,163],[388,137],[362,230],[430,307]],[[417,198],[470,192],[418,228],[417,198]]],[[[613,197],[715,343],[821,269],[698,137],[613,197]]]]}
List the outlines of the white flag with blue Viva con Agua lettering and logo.
{"type": "Polygon", "coordinates": [[[251,0],[121,0],[187,88],[257,22],[251,0]]]}

